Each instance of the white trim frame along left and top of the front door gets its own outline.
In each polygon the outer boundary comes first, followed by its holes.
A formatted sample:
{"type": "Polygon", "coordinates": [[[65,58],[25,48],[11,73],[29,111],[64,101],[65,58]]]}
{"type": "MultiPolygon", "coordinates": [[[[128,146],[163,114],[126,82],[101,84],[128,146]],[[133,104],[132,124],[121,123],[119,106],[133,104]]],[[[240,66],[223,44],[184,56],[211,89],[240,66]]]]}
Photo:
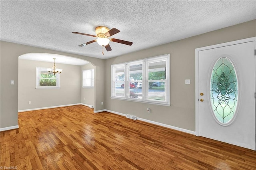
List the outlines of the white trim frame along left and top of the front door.
{"type": "MultiPolygon", "coordinates": [[[[246,43],[246,42],[256,42],[256,37],[246,38],[246,39],[242,39],[242,40],[236,40],[236,41],[232,41],[232,42],[220,43],[220,44],[216,44],[216,45],[210,45],[210,46],[200,47],[200,48],[195,49],[195,52],[196,52],[196,55],[195,55],[196,56],[196,72],[195,72],[195,74],[196,74],[195,75],[196,136],[199,136],[199,51],[213,49],[213,48],[219,48],[219,47],[225,47],[225,46],[235,45],[235,44],[239,44],[239,43],[246,43]]],[[[256,49],[256,43],[255,43],[255,49],[256,49]]],[[[256,65],[256,63],[255,63],[255,65],[256,65]]],[[[255,75],[256,75],[256,71],[255,71],[255,75]]],[[[254,89],[254,90],[256,92],[256,89],[254,89]]],[[[256,103],[255,103],[255,105],[256,105],[256,103]]],[[[255,120],[255,122],[256,122],[256,120],[255,120]]],[[[256,127],[255,127],[255,130],[256,130],[256,127]]]]}

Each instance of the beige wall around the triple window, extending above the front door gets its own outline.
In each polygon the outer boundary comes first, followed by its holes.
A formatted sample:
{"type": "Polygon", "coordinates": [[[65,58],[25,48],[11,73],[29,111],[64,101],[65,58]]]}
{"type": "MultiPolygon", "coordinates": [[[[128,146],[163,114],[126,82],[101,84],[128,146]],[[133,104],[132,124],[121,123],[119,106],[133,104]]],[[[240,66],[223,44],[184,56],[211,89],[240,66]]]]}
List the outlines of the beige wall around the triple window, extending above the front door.
{"type": "MultiPolygon", "coordinates": [[[[106,109],[195,131],[195,49],[256,36],[256,20],[106,60],[106,109]],[[170,53],[171,106],[110,99],[112,64],[170,53]],[[190,79],[191,84],[185,84],[190,79]],[[150,113],[147,113],[150,108],[150,113]]],[[[134,43],[136,45],[136,43],[134,43]]]]}

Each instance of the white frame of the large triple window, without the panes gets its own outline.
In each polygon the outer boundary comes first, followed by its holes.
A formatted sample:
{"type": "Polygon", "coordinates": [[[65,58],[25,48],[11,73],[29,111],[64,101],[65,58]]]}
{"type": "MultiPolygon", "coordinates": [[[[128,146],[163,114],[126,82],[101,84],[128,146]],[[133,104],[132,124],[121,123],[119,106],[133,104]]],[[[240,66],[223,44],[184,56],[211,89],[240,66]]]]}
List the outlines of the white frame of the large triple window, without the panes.
{"type": "MultiPolygon", "coordinates": [[[[140,80],[141,81],[141,80],[140,80]]],[[[141,103],[149,103],[155,105],[170,106],[170,54],[159,55],[156,57],[150,57],[137,61],[130,61],[121,64],[111,65],[111,99],[120,99],[126,101],[135,101],[141,103]],[[165,80],[148,80],[148,64],[151,62],[166,61],[166,79],[165,80]],[[142,63],[142,99],[130,97],[130,80],[129,80],[129,66],[142,63]],[[118,67],[124,67],[124,97],[116,96],[115,87],[115,69],[118,67]],[[148,89],[150,81],[161,81],[164,82],[164,96],[165,100],[160,101],[156,99],[148,99],[148,89]],[[128,88],[127,88],[128,87],[128,88]]]]}

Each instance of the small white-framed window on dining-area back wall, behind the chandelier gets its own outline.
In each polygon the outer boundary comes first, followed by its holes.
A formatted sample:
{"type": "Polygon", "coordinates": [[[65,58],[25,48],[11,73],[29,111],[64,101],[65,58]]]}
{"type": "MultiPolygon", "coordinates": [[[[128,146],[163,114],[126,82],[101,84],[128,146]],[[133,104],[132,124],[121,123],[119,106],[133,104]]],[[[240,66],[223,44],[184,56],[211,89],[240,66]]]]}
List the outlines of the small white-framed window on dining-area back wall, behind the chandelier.
{"type": "Polygon", "coordinates": [[[60,75],[49,74],[47,68],[36,67],[36,89],[60,89],[60,75]]]}

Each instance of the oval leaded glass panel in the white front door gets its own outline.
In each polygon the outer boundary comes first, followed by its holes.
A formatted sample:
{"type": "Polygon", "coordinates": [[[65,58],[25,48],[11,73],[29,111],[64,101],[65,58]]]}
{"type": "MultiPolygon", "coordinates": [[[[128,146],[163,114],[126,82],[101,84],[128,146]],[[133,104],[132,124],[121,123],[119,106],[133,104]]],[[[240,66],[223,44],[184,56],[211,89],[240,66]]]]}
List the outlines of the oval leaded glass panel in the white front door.
{"type": "Polygon", "coordinates": [[[228,123],[235,114],[238,82],[232,62],[222,57],[215,63],[210,83],[212,110],[220,123],[228,123]]]}

